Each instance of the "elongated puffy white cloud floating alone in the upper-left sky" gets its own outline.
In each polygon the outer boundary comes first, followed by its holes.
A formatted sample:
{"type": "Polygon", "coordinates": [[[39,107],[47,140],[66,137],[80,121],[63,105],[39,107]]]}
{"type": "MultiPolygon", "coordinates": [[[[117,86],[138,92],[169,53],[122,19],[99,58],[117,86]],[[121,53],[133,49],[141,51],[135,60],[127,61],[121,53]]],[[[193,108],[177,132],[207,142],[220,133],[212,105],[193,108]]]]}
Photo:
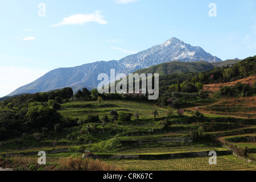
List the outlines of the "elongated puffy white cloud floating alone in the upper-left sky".
{"type": "Polygon", "coordinates": [[[100,15],[101,11],[96,10],[92,14],[75,14],[71,15],[67,18],[63,18],[62,22],[53,24],[52,27],[59,27],[64,25],[77,25],[77,24],[84,24],[88,22],[96,22],[99,24],[108,24],[106,20],[104,20],[104,16],[100,15]]]}

